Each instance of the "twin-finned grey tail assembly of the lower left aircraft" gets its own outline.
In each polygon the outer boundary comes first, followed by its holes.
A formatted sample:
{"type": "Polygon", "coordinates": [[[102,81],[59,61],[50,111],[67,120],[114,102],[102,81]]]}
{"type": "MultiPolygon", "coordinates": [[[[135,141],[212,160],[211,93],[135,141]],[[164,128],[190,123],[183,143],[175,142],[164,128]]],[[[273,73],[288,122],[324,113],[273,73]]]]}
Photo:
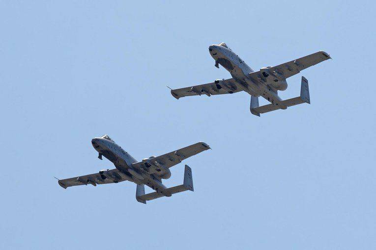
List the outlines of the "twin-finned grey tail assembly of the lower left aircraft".
{"type": "MultiPolygon", "coordinates": [[[[191,168],[188,165],[185,165],[183,184],[179,186],[167,188],[165,189],[165,192],[176,194],[176,193],[180,193],[180,192],[187,191],[187,190],[193,191],[193,179],[192,179],[191,168]]],[[[154,199],[161,198],[161,197],[164,197],[164,195],[161,193],[153,192],[153,193],[149,193],[145,195],[145,191],[144,191],[144,194],[140,196],[136,196],[136,199],[139,202],[146,203],[146,200],[154,200],[154,199]]]]}

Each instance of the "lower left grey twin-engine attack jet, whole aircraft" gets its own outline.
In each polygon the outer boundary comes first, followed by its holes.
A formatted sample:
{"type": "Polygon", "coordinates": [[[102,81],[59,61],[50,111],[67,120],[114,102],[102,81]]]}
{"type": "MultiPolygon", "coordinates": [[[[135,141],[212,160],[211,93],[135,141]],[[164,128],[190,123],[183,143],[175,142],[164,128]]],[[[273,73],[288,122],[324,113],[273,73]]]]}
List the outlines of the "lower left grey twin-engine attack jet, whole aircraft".
{"type": "Polygon", "coordinates": [[[114,163],[116,169],[101,170],[96,174],[58,180],[58,184],[66,189],[71,186],[87,184],[96,186],[97,184],[118,183],[128,180],[137,184],[136,200],[145,204],[146,200],[154,200],[164,196],[171,197],[175,193],[187,190],[193,191],[192,170],[187,165],[185,165],[182,185],[166,188],[162,184],[162,179],[170,178],[171,171],[169,168],[172,166],[188,157],[210,149],[206,143],[199,142],[157,157],[150,156],[138,162],[108,135],[92,139],[91,144],[98,151],[98,158],[102,160],[102,156],[106,157],[114,163]],[[155,192],[145,194],[145,185],[155,192]]]}

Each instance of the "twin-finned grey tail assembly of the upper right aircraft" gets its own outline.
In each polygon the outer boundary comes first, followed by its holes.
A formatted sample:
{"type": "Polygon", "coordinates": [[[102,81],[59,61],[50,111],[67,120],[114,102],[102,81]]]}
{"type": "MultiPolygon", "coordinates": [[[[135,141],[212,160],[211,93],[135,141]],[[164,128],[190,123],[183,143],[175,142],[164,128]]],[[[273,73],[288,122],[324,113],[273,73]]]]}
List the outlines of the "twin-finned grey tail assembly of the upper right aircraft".
{"type": "MultiPolygon", "coordinates": [[[[251,100],[252,100],[252,97],[251,97],[251,100]]],[[[294,105],[301,104],[304,102],[311,103],[311,100],[310,100],[310,93],[309,93],[309,88],[308,88],[308,80],[304,76],[302,76],[302,83],[300,87],[300,97],[283,100],[282,104],[290,107],[290,106],[294,106],[294,105]]],[[[267,113],[267,112],[274,111],[277,109],[281,109],[281,107],[282,105],[277,106],[273,104],[267,104],[264,106],[252,108],[252,102],[251,102],[251,113],[254,115],[263,114],[263,113],[267,113]]]]}

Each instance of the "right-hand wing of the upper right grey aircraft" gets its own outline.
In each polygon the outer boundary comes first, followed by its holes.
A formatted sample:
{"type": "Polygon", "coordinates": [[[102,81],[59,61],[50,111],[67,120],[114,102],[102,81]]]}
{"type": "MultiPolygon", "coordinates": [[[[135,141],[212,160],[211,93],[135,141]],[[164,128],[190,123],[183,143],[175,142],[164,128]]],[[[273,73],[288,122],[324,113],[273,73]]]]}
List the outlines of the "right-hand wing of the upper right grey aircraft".
{"type": "Polygon", "coordinates": [[[307,69],[313,65],[316,65],[322,61],[331,59],[328,53],[324,51],[318,51],[316,53],[300,57],[298,59],[283,63],[269,68],[270,71],[276,71],[285,78],[289,78],[292,75],[298,74],[300,71],[307,69]]]}

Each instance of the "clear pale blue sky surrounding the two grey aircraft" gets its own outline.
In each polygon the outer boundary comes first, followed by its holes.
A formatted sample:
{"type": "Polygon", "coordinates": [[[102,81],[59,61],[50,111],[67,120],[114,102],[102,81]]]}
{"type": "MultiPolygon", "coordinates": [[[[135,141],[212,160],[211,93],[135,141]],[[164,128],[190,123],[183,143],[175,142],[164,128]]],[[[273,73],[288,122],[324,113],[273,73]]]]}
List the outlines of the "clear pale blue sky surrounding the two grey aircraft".
{"type": "MultiPolygon", "coordinates": [[[[0,249],[375,249],[375,3],[0,1],[0,249]],[[324,50],[288,79],[311,104],[254,116],[246,93],[174,99],[230,78],[208,46],[254,70],[324,50]],[[130,182],[62,189],[114,168],[90,140],[138,160],[203,141],[174,166],[195,192],[146,205],[130,182]]],[[[266,104],[260,99],[260,105],[266,104]]],[[[149,189],[147,191],[150,191],[149,189]]]]}

